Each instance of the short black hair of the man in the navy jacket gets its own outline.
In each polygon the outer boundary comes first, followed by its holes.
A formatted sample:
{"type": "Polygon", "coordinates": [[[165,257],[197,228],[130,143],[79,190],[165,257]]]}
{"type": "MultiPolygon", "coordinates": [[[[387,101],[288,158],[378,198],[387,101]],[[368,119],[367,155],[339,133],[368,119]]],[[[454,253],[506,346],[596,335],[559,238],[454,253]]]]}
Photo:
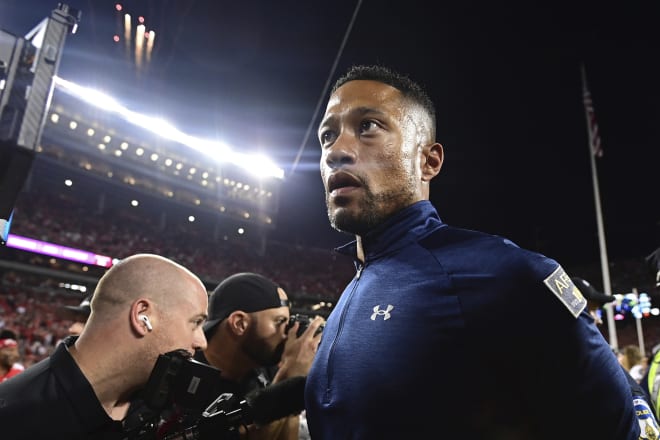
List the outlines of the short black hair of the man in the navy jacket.
{"type": "Polygon", "coordinates": [[[401,94],[421,105],[435,124],[435,105],[424,88],[407,75],[382,65],[354,65],[335,82],[332,93],[349,81],[378,81],[399,90],[401,94]]]}

